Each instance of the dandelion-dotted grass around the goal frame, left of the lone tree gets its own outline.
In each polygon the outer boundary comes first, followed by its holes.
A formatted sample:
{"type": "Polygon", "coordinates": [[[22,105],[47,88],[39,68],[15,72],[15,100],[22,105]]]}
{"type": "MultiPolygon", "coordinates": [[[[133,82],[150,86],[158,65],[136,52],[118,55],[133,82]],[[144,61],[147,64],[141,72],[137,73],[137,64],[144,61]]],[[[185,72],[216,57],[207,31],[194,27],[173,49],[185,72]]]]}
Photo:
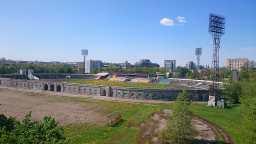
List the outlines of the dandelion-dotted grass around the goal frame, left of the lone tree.
{"type": "Polygon", "coordinates": [[[101,112],[107,115],[113,111],[121,111],[122,120],[114,126],[95,126],[88,123],[81,125],[65,125],[64,135],[70,143],[137,143],[140,132],[139,124],[142,121],[149,121],[148,117],[153,112],[161,109],[157,106],[121,103],[115,101],[90,100],[75,98],[74,101],[89,102],[104,107],[101,112]],[[132,127],[126,127],[131,122],[132,127]]]}

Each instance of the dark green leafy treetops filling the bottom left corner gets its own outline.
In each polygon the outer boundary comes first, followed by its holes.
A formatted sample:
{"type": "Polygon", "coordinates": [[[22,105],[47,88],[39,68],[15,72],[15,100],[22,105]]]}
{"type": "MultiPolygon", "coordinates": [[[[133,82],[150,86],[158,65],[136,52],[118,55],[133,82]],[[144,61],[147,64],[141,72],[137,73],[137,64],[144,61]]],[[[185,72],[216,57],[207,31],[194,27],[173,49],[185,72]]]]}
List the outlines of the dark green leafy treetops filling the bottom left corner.
{"type": "Polygon", "coordinates": [[[63,134],[63,128],[57,126],[58,122],[51,119],[50,116],[44,116],[43,122],[31,121],[29,118],[31,111],[29,111],[25,118],[20,123],[15,120],[16,124],[13,129],[9,131],[6,126],[0,130],[1,143],[57,143],[66,144],[63,134]]]}

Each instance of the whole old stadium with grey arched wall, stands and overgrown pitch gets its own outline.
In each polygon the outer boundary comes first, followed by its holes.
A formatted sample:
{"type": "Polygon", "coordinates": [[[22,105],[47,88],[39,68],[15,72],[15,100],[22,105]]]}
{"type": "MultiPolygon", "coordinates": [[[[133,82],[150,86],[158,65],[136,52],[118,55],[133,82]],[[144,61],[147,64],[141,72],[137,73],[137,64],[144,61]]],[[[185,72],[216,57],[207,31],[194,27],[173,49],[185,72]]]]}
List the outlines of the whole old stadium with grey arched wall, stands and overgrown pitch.
{"type": "Polygon", "coordinates": [[[61,74],[33,73],[33,69],[28,69],[28,75],[25,75],[23,70],[20,70],[20,74],[0,75],[0,85],[81,95],[154,100],[175,100],[178,93],[185,88],[190,93],[190,99],[193,101],[207,101],[209,85],[212,83],[212,81],[207,80],[152,78],[149,77],[149,73],[142,72],[115,72],[111,75],[108,72],[61,74]],[[76,83],[77,80],[90,81],[96,84],[76,83]],[[126,86],[127,84],[128,86],[126,86]],[[144,86],[145,84],[146,86],[144,86]]]}

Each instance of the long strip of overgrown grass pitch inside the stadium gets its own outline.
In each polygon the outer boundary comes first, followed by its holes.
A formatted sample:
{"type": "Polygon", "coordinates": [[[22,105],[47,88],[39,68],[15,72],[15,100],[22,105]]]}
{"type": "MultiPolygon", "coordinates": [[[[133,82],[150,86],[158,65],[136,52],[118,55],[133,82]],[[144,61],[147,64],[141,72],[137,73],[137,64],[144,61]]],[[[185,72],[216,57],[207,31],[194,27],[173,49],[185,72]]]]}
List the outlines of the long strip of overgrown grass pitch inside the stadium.
{"type": "Polygon", "coordinates": [[[137,82],[121,82],[121,81],[104,81],[104,80],[65,80],[59,82],[67,83],[80,83],[80,84],[92,84],[92,85],[111,85],[121,87],[139,87],[139,88],[164,88],[166,84],[153,84],[153,83],[137,83],[137,82]]]}

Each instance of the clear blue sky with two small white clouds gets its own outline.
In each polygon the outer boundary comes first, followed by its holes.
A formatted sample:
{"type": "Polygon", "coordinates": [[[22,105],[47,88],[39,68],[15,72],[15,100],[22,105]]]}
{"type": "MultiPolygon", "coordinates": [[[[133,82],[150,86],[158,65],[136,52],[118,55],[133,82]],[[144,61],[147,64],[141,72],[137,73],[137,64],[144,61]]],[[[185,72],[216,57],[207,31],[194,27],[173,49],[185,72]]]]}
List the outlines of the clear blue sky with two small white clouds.
{"type": "Polygon", "coordinates": [[[226,58],[256,61],[256,0],[0,0],[0,57],[12,60],[211,66],[209,13],[226,16],[219,66],[226,58]]]}

